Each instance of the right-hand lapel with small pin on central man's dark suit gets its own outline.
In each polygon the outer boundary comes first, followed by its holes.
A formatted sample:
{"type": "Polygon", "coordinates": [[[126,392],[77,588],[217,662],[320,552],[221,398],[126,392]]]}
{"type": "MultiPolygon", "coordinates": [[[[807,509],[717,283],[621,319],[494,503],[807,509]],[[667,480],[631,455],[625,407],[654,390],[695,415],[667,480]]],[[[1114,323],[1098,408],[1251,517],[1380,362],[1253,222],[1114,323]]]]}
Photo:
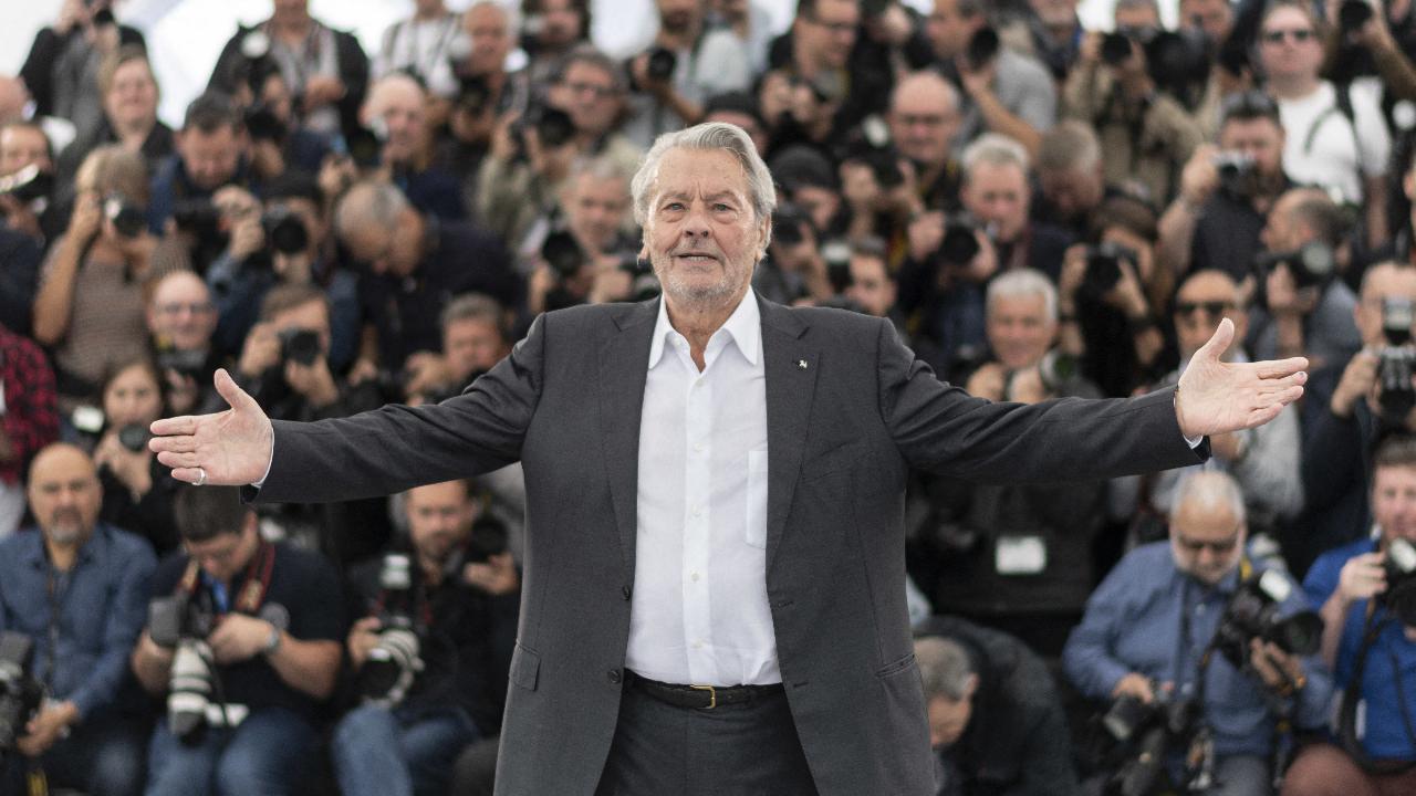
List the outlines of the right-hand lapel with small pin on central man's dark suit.
{"type": "Polygon", "coordinates": [[[801,472],[821,357],[801,340],[807,326],[797,314],[760,297],[758,306],[767,381],[767,571],[772,571],[801,472]]]}

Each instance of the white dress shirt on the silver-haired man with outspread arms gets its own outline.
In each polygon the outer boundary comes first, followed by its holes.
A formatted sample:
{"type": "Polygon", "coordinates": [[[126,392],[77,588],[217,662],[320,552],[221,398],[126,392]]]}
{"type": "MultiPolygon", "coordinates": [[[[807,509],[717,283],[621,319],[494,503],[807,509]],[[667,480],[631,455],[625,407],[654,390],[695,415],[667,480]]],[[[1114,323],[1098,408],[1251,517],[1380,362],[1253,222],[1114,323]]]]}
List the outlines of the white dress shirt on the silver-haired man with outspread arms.
{"type": "Polygon", "coordinates": [[[756,295],[708,340],[698,373],[664,303],[639,431],[626,666],[701,686],[782,681],[767,605],[767,394],[756,295]]]}

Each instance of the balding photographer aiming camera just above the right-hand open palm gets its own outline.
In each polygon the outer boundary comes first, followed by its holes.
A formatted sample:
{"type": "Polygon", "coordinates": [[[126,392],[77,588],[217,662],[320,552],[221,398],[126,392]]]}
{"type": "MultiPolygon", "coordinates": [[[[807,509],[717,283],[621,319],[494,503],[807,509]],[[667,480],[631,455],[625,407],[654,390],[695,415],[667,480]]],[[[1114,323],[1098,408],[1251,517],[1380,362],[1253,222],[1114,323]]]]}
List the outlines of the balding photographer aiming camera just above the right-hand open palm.
{"type": "Polygon", "coordinates": [[[1293,188],[1274,203],[1260,234],[1263,300],[1246,340],[1255,357],[1304,356],[1320,368],[1361,347],[1357,296],[1335,278],[1347,259],[1345,229],[1341,208],[1318,188],[1293,188]]]}

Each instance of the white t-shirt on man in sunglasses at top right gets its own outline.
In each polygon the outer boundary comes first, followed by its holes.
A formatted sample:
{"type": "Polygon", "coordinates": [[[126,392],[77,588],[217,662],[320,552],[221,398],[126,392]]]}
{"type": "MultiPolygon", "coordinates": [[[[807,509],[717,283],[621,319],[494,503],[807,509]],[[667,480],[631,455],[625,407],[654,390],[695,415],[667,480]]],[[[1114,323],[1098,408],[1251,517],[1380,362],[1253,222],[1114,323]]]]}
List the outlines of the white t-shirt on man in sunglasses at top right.
{"type": "Polygon", "coordinates": [[[1359,204],[1362,178],[1386,171],[1392,136],[1376,98],[1362,86],[1349,91],[1357,129],[1337,106],[1337,89],[1323,81],[1303,99],[1279,101],[1283,119],[1283,169],[1297,183],[1320,186],[1359,204]]]}

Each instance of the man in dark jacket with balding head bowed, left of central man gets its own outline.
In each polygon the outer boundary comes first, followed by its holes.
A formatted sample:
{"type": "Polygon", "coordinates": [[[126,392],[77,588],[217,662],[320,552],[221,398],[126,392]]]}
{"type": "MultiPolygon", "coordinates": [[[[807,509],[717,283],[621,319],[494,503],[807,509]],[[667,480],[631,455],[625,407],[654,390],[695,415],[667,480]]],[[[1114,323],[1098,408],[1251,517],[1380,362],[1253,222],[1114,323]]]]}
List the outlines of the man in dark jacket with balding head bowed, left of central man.
{"type": "Polygon", "coordinates": [[[438,348],[438,316],[453,296],[487,293],[508,306],[520,299],[510,258],[494,235],[419,212],[388,183],[350,188],[334,211],[334,232],[367,266],[360,275],[360,360],[387,373],[398,373],[413,351],[438,348]]]}

